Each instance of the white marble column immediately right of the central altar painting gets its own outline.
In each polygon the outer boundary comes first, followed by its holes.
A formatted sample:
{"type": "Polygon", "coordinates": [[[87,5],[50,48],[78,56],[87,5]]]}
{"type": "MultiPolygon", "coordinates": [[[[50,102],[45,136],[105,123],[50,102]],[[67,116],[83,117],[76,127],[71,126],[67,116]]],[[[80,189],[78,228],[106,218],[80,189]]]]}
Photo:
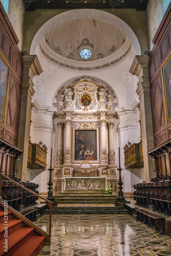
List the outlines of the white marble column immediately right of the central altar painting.
{"type": "Polygon", "coordinates": [[[107,155],[107,141],[106,141],[106,121],[100,121],[101,133],[100,133],[100,162],[107,163],[108,155],[107,155]]]}

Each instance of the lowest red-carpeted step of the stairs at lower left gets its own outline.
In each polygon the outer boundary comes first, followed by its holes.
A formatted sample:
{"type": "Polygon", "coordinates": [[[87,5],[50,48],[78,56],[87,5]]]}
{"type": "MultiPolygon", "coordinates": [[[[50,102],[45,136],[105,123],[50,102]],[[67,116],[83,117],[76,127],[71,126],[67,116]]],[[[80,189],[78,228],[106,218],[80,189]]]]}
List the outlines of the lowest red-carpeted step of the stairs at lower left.
{"type": "Polygon", "coordinates": [[[46,237],[32,237],[24,245],[22,245],[18,250],[16,250],[12,256],[31,256],[37,255],[42,248],[45,246],[46,237]]]}

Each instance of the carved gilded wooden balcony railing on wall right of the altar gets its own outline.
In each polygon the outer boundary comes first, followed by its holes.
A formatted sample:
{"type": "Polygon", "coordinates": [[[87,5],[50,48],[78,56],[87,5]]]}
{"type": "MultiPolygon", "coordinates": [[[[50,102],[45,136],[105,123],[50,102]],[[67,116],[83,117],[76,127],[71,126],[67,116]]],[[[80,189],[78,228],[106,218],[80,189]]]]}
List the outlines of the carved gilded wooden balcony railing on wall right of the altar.
{"type": "Polygon", "coordinates": [[[125,155],[125,168],[134,169],[142,168],[144,166],[142,141],[130,146],[126,144],[123,148],[125,155]]]}

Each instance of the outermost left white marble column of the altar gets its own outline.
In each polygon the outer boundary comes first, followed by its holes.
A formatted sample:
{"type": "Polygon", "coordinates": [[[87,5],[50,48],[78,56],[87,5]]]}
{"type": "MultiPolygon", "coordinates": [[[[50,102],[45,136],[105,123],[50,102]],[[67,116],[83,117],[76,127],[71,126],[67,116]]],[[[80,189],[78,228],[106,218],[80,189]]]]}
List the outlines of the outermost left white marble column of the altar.
{"type": "Polygon", "coordinates": [[[58,126],[58,137],[57,137],[57,151],[56,151],[56,164],[62,164],[62,129],[63,123],[57,122],[58,126]]]}

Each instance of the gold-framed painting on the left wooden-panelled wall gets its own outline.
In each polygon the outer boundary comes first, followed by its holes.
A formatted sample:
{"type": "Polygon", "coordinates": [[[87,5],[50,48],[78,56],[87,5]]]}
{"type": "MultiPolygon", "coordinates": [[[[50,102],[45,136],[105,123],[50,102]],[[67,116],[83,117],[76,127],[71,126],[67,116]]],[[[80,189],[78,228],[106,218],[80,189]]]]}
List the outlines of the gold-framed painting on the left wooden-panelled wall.
{"type": "Polygon", "coordinates": [[[5,123],[10,68],[0,54],[0,122],[5,123]]]}

